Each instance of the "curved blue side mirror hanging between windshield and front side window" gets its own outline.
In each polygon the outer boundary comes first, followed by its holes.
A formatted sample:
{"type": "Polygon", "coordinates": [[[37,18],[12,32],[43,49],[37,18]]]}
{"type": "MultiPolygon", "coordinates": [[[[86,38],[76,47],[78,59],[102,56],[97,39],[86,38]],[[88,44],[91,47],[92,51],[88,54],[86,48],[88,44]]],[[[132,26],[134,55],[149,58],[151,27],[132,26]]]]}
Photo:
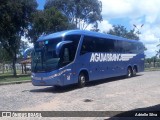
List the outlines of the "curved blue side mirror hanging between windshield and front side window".
{"type": "Polygon", "coordinates": [[[59,42],[57,45],[56,45],[56,55],[57,56],[60,56],[60,53],[61,53],[61,50],[62,48],[67,45],[67,44],[70,44],[72,43],[72,41],[62,41],[62,42],[59,42]]]}

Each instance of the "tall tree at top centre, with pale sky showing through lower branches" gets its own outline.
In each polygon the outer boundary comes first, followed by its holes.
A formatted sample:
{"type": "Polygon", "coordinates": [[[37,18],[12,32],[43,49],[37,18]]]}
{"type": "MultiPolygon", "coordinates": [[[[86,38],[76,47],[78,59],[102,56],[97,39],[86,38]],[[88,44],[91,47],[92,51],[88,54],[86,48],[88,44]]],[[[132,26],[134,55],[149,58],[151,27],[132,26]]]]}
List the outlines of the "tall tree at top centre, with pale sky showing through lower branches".
{"type": "Polygon", "coordinates": [[[56,7],[70,23],[79,29],[102,21],[102,3],[99,0],[47,0],[45,9],[56,7]]]}

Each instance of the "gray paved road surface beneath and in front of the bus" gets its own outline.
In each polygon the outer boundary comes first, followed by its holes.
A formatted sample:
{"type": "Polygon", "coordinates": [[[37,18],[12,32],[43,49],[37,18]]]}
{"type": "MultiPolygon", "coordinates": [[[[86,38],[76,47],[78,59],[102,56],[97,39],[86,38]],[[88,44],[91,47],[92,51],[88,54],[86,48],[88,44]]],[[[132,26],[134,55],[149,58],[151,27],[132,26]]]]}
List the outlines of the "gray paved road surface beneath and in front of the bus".
{"type": "Polygon", "coordinates": [[[23,83],[0,86],[0,91],[0,111],[160,110],[160,71],[90,82],[81,89],[23,83]]]}

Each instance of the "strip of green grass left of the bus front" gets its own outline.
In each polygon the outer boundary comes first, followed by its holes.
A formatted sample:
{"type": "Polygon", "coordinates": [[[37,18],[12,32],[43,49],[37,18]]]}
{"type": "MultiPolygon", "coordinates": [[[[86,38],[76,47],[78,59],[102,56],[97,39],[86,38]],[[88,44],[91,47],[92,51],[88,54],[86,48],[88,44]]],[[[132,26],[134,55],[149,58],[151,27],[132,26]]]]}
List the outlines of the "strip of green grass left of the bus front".
{"type": "Polygon", "coordinates": [[[9,74],[9,73],[0,74],[0,83],[14,82],[14,81],[26,81],[26,80],[31,80],[30,75],[18,74],[16,77],[14,77],[12,74],[9,74]]]}

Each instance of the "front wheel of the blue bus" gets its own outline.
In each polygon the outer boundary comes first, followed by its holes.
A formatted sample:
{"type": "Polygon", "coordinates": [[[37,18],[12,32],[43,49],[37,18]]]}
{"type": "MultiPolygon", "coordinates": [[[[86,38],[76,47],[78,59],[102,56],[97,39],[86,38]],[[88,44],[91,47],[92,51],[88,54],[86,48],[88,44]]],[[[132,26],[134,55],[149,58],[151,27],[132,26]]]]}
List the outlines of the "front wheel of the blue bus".
{"type": "Polygon", "coordinates": [[[78,86],[80,88],[84,87],[86,84],[86,80],[87,80],[86,75],[84,73],[80,73],[78,77],[78,86]]]}

